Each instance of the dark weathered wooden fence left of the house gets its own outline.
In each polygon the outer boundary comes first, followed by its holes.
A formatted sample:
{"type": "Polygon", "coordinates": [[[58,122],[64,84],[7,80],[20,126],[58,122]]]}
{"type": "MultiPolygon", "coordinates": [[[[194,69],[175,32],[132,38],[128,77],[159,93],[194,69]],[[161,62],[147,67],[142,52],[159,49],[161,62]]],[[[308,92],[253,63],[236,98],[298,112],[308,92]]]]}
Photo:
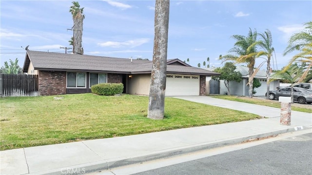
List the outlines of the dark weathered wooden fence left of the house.
{"type": "Polygon", "coordinates": [[[0,97],[38,96],[38,75],[1,74],[0,97]]]}

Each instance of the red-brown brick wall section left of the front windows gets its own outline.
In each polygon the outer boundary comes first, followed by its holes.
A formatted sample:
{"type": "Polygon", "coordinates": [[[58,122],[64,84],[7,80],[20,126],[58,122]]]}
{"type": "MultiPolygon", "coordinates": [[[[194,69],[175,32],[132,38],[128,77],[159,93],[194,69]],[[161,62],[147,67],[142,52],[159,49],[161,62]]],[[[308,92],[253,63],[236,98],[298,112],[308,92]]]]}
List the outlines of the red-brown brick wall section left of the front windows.
{"type": "Polygon", "coordinates": [[[39,71],[38,79],[40,96],[66,94],[66,72],[39,71]]]}

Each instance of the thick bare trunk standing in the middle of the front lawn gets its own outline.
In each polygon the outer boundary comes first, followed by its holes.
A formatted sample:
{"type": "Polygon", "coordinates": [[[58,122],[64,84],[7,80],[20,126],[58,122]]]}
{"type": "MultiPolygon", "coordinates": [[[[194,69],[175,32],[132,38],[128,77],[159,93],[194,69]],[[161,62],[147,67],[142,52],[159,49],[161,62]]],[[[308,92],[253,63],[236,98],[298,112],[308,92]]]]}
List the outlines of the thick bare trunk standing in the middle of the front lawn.
{"type": "Polygon", "coordinates": [[[169,0],[156,0],[155,37],[147,117],[163,119],[167,71],[169,0]]]}

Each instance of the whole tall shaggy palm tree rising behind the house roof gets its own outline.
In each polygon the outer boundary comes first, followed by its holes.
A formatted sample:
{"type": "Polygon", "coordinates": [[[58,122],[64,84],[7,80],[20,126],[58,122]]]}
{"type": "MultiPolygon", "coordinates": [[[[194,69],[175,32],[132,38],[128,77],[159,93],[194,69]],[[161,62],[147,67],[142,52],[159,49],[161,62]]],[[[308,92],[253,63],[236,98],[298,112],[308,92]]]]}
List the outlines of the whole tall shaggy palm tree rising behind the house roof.
{"type": "Polygon", "coordinates": [[[80,8],[80,5],[77,1],[72,2],[73,5],[70,7],[69,12],[73,15],[74,26],[73,30],[73,53],[83,55],[82,48],[82,30],[83,30],[83,9],[80,8]]]}

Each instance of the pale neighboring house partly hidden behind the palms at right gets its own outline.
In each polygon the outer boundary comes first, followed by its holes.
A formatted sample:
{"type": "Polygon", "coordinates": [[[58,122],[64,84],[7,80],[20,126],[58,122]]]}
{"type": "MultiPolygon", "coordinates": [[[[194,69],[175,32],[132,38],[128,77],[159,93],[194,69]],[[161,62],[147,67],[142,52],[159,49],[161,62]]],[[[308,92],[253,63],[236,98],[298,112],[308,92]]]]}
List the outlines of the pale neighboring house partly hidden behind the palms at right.
{"type": "MultiPolygon", "coordinates": [[[[231,95],[236,96],[248,96],[249,94],[249,85],[246,85],[248,83],[248,67],[245,66],[236,66],[236,70],[242,74],[242,80],[240,82],[236,81],[230,81],[230,93],[231,95]]],[[[258,79],[261,82],[261,86],[258,88],[255,88],[254,90],[257,92],[254,94],[254,96],[265,96],[267,92],[267,73],[264,70],[259,70],[254,78],[258,79]]],[[[271,74],[271,78],[274,78],[273,73],[271,74]]],[[[280,78],[276,78],[280,79],[280,78]]],[[[207,89],[209,88],[209,81],[211,80],[211,77],[206,78],[207,82],[207,89]]],[[[276,87],[279,86],[280,81],[274,80],[270,82],[270,91],[275,90],[276,87]]],[[[207,90],[207,93],[209,90],[207,90]]],[[[219,85],[219,94],[224,94],[225,92],[228,92],[228,89],[225,87],[224,82],[220,81],[219,85]]]]}

